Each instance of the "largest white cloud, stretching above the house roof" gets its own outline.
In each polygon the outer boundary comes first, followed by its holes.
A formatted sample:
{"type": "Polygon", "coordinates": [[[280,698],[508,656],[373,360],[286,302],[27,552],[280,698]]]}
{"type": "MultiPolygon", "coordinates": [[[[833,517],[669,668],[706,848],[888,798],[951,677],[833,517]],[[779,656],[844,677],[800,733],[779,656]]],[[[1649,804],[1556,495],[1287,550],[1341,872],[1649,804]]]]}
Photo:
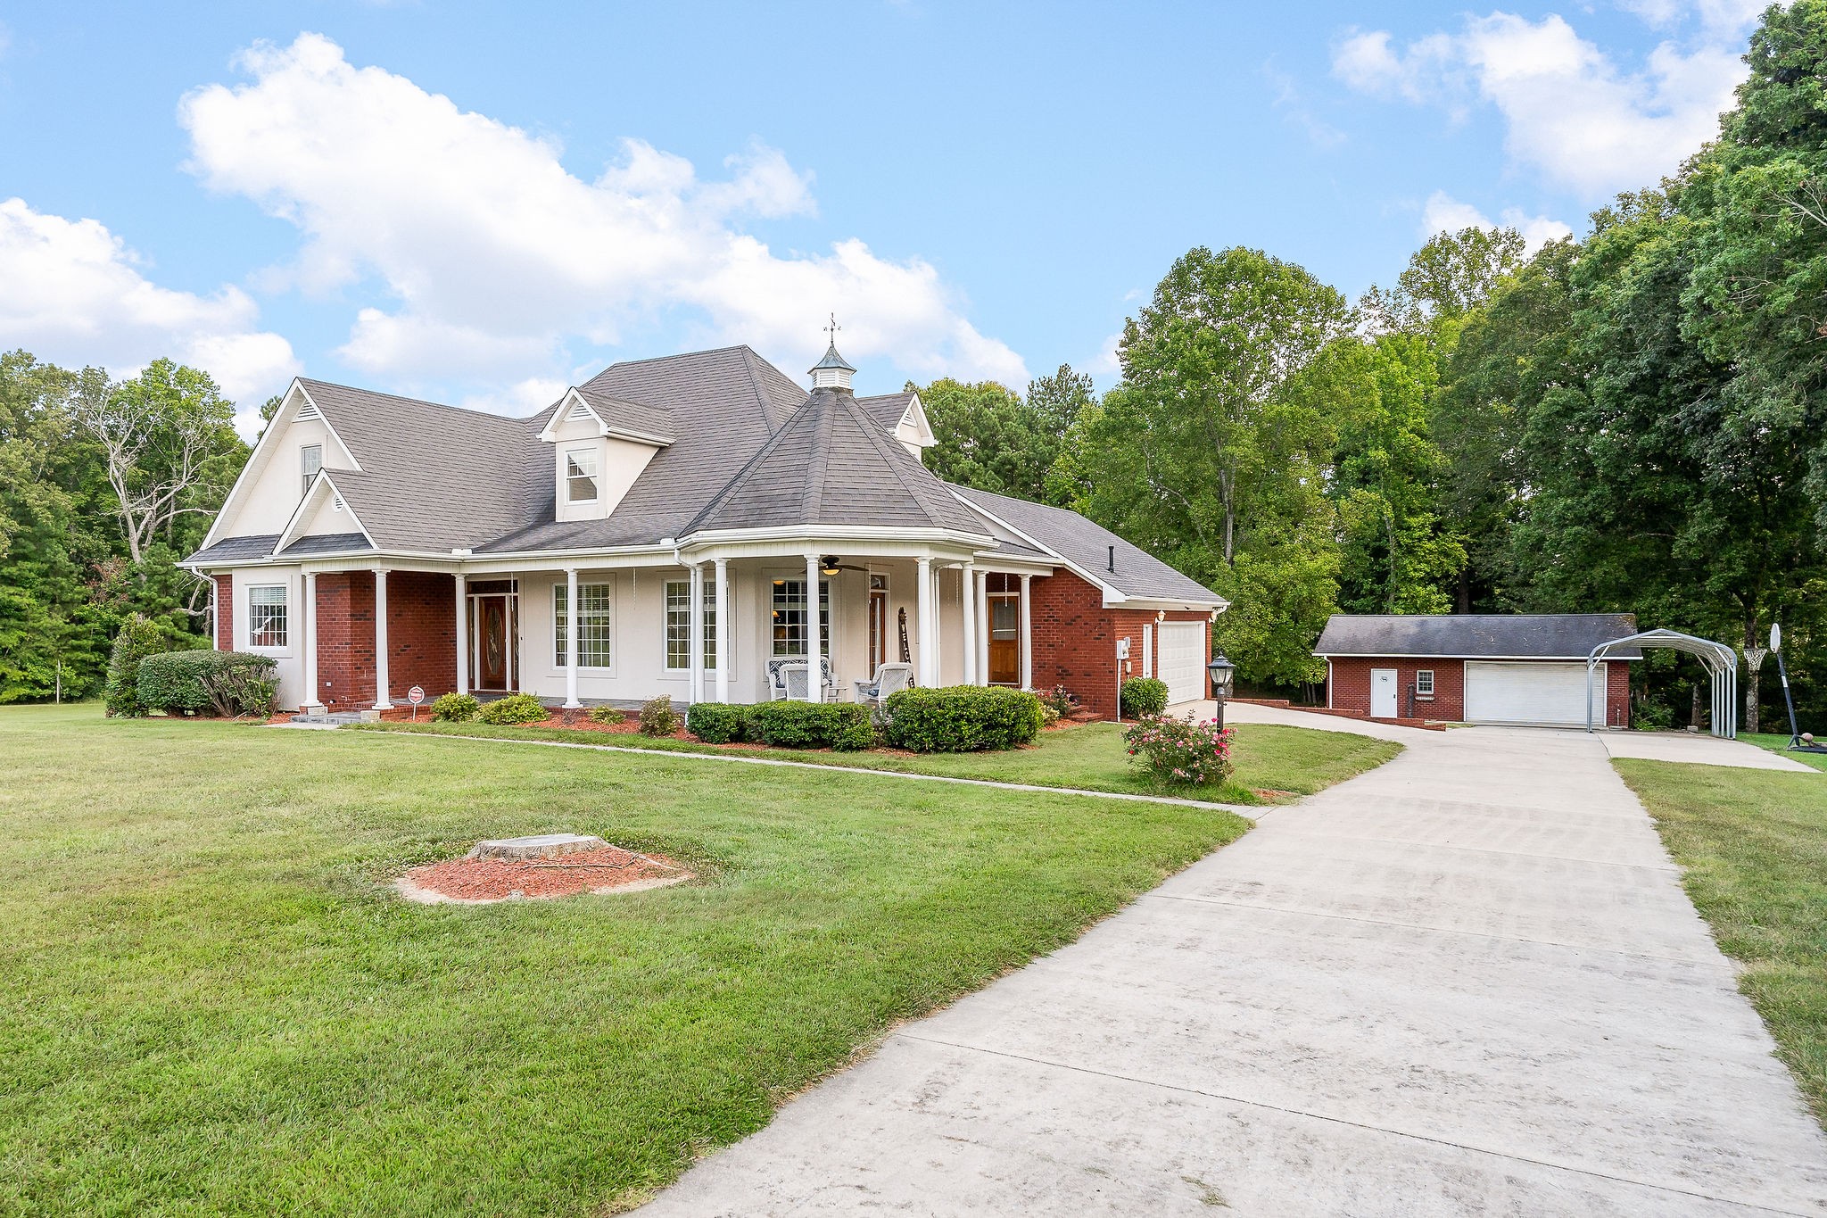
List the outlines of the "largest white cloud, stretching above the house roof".
{"type": "Polygon", "coordinates": [[[702,181],[683,157],[627,141],[583,181],[554,141],[354,68],[322,35],[256,44],[238,66],[250,82],[181,104],[190,168],[298,226],[290,283],[385,285],[395,303],[362,309],[342,349],[369,373],[550,374],[572,338],[616,343],[685,309],[707,341],[745,341],[789,365],[817,358],[818,323],[837,310],[859,365],[875,356],[921,374],[1027,380],[930,263],[884,259],[857,239],[784,254],[747,232],[749,219],[815,212],[808,175],[773,148],[702,181]]]}

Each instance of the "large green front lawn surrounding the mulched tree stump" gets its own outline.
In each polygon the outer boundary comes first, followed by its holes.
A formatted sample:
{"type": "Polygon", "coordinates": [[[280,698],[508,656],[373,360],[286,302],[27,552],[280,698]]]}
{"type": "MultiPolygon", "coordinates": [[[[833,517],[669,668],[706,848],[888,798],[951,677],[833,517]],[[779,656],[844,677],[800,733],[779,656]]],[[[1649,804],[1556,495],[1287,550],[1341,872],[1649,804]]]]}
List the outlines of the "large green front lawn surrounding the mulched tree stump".
{"type": "Polygon", "coordinates": [[[0,1213],[597,1214],[1246,829],[1171,803],[0,709],[0,1213]],[[576,829],[625,897],[385,882],[576,829]]]}

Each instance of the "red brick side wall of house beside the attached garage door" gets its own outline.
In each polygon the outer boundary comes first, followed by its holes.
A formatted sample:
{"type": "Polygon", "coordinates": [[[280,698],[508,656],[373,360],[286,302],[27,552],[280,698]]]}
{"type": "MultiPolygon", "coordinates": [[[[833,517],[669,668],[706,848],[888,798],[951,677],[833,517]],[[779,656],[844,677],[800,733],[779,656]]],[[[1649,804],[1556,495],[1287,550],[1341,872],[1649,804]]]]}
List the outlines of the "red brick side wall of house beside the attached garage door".
{"type": "MultiPolygon", "coordinates": [[[[1104,608],[1096,584],[1072,572],[1032,579],[1029,593],[1034,626],[1034,688],[1063,685],[1080,705],[1104,719],[1116,718],[1116,688],[1142,672],[1142,628],[1155,626],[1155,610],[1104,608]],[[1116,659],[1116,639],[1129,639],[1129,659],[1116,659]],[[1124,663],[1125,672],[1118,672],[1124,663]]],[[[1206,621],[1209,614],[1169,612],[1167,621],[1206,621]]],[[[1149,648],[1151,657],[1158,654],[1149,648]]],[[[1206,637],[1211,659],[1211,637],[1206,637]]]]}

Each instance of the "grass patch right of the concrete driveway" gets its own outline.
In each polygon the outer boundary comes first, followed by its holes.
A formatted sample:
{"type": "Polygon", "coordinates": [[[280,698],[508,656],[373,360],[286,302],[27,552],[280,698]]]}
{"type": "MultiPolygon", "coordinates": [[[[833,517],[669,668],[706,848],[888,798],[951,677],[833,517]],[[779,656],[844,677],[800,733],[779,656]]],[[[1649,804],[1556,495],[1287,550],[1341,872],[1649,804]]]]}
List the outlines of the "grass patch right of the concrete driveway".
{"type": "Polygon", "coordinates": [[[1827,1127],[1827,780],[1613,765],[1655,818],[1719,948],[1743,966],[1739,990],[1827,1127]]]}

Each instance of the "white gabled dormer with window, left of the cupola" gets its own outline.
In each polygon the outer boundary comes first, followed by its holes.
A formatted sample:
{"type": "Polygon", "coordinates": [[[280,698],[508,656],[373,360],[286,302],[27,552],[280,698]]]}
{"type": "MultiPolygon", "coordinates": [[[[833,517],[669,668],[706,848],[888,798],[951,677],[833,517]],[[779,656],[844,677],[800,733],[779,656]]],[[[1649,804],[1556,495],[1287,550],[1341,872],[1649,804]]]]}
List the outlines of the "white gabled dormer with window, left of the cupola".
{"type": "Polygon", "coordinates": [[[552,446],[559,520],[601,520],[672,444],[663,409],[568,389],[539,438],[552,446]]]}

